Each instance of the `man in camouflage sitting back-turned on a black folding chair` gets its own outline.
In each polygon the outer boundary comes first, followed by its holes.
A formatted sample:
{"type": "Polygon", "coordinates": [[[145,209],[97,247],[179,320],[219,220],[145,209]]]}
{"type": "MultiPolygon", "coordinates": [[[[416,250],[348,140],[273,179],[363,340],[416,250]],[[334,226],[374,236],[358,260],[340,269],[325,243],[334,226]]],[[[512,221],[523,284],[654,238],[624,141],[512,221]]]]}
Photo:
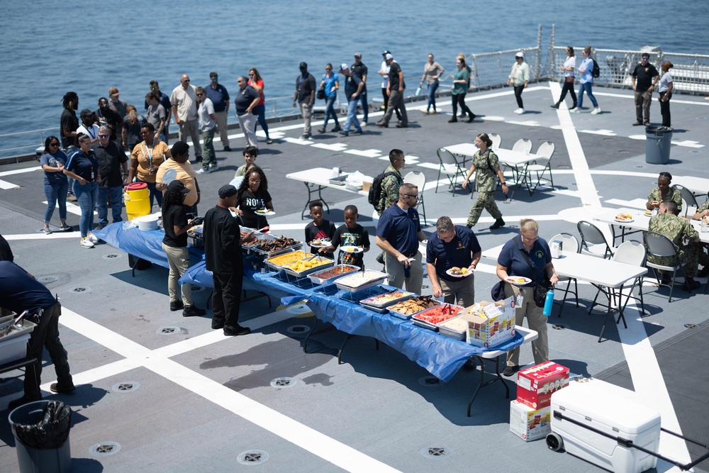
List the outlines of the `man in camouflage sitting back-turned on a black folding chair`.
{"type": "MultiPolygon", "coordinates": [[[[698,289],[700,286],[700,283],[694,277],[697,274],[700,254],[702,255],[702,260],[706,260],[706,255],[701,247],[699,233],[686,219],[677,216],[678,212],[677,204],[674,201],[661,202],[659,213],[650,218],[648,230],[666,236],[674,244],[679,261],[684,266],[684,279],[686,282],[683,289],[691,292],[692,289],[698,289]],[[687,245],[683,243],[685,238],[689,240],[687,245]]],[[[674,257],[647,255],[647,260],[656,265],[674,266],[676,264],[674,257]]],[[[706,262],[703,264],[706,265],[706,262]]],[[[665,272],[662,272],[662,284],[669,284],[669,274],[665,272]]]]}

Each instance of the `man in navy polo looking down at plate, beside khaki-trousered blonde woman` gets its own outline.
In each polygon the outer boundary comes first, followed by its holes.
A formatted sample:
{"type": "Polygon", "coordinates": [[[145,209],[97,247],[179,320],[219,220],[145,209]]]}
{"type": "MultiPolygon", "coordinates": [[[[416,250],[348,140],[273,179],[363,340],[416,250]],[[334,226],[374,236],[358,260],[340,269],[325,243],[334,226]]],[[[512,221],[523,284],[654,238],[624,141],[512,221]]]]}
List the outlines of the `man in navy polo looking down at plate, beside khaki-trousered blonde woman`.
{"type": "Polygon", "coordinates": [[[480,261],[482,250],[473,230],[453,225],[450,217],[436,222],[436,233],[426,245],[426,272],[431,281],[433,296],[444,296],[448,304],[469,307],[474,304],[475,289],[472,272],[480,261]],[[467,268],[469,275],[452,276],[451,268],[467,268]]]}

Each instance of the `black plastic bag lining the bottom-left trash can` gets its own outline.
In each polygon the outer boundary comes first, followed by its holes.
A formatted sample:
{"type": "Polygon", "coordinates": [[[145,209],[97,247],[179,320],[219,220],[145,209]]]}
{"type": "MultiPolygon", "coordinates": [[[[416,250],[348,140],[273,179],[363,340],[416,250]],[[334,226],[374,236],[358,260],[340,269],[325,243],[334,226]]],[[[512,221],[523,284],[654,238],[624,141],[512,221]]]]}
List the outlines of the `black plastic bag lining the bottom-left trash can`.
{"type": "MultiPolygon", "coordinates": [[[[19,420],[19,419],[18,419],[19,420]]],[[[62,401],[49,401],[38,423],[12,423],[13,434],[24,445],[38,450],[59,448],[69,438],[72,408],[62,401]]]]}

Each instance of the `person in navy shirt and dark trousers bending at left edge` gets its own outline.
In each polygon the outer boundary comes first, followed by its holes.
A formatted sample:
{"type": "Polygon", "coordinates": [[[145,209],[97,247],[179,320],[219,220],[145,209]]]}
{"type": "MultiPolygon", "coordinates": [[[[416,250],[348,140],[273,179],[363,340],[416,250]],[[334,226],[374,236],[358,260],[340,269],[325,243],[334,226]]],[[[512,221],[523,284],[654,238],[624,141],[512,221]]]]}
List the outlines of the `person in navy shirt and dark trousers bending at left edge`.
{"type": "Polygon", "coordinates": [[[47,347],[57,372],[57,382],[52,383],[50,390],[55,393],[74,391],[76,388],[69,373],[67,350],[59,339],[59,316],[62,313],[62,305],[55,296],[52,296],[49,289],[14,262],[0,261],[0,307],[8,308],[18,314],[28,311],[26,317],[37,323],[30,334],[27,347],[27,356],[34,357],[37,361],[27,366],[24,396],[10,401],[9,408],[13,409],[42,399],[40,377],[44,347],[47,347]]]}

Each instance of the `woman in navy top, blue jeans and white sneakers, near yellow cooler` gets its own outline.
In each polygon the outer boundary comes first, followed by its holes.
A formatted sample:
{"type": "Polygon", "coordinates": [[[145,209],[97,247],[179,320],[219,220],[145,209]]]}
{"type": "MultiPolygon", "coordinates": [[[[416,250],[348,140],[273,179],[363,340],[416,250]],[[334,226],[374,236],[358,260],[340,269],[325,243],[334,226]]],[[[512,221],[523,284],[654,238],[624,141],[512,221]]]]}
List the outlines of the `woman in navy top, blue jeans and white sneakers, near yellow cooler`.
{"type": "Polygon", "coordinates": [[[79,133],[77,135],[79,149],[74,152],[66,167],[64,174],[74,179],[74,195],[79,201],[79,208],[82,209],[82,217],[79,219],[79,230],[82,233],[81,245],[83,248],[93,248],[94,243],[99,241],[91,233],[94,229],[94,208],[99,198],[99,162],[96,160],[94,150],[91,149],[91,138],[79,133]]]}

